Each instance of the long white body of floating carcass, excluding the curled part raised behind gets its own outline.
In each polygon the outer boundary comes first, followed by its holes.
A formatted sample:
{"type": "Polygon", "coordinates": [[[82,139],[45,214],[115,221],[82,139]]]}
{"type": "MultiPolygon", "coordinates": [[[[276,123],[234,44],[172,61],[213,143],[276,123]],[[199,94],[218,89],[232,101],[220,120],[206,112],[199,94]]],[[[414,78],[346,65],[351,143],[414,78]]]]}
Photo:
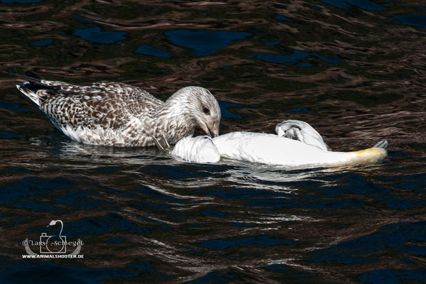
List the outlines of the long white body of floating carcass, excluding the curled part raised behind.
{"type": "MultiPolygon", "coordinates": [[[[204,157],[208,148],[200,137],[187,137],[184,143],[177,143],[174,153],[178,157],[195,163],[216,163],[204,157]]],[[[384,148],[368,148],[354,152],[325,151],[301,141],[266,133],[231,132],[212,139],[214,147],[222,158],[250,163],[278,165],[285,168],[320,168],[378,163],[386,158],[384,148]]]]}

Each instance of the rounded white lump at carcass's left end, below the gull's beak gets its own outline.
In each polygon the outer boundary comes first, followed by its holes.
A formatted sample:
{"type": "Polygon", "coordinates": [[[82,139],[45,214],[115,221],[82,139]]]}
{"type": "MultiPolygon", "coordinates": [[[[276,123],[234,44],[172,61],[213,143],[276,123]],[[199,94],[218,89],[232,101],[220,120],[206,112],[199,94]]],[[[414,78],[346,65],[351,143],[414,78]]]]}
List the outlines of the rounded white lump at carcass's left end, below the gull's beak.
{"type": "Polygon", "coordinates": [[[217,163],[220,160],[219,151],[209,136],[187,136],[176,143],[171,153],[175,158],[192,163],[217,163]]]}

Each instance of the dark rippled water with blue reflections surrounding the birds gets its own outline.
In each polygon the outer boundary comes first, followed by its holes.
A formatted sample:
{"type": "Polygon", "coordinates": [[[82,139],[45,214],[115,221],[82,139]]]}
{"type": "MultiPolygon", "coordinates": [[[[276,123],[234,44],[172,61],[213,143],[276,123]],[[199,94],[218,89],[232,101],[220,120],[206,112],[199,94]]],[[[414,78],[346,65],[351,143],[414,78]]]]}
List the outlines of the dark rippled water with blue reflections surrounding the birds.
{"type": "Polygon", "coordinates": [[[2,74],[0,283],[426,283],[425,1],[1,0],[0,38],[3,71],[206,87],[222,133],[300,119],[335,150],[390,143],[297,171],[80,146],[2,74]],[[23,258],[58,219],[84,258],[23,258]]]}

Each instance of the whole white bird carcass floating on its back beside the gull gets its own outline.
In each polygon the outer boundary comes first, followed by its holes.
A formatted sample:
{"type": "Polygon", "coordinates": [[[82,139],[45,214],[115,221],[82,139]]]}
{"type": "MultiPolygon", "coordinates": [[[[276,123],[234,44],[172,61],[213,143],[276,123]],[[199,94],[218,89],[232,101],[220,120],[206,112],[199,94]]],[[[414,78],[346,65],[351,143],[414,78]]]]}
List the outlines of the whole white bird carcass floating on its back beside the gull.
{"type": "Polygon", "coordinates": [[[368,165],[388,155],[386,140],[361,151],[328,151],[320,134],[303,121],[283,121],[275,131],[278,135],[237,131],[213,139],[189,136],[176,143],[172,155],[193,163],[228,158],[292,169],[368,165]]]}

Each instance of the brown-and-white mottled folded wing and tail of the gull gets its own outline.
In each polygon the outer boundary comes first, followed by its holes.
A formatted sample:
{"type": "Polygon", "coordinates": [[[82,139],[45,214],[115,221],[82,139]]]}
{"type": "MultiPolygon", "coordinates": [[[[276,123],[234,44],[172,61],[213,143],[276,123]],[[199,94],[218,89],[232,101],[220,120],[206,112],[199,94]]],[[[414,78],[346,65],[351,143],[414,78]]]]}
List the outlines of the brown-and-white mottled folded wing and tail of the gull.
{"type": "Polygon", "coordinates": [[[17,87],[60,129],[67,126],[122,129],[135,117],[150,119],[163,105],[138,87],[115,82],[80,86],[31,78],[17,87]]]}

